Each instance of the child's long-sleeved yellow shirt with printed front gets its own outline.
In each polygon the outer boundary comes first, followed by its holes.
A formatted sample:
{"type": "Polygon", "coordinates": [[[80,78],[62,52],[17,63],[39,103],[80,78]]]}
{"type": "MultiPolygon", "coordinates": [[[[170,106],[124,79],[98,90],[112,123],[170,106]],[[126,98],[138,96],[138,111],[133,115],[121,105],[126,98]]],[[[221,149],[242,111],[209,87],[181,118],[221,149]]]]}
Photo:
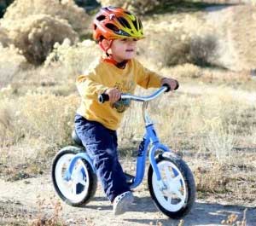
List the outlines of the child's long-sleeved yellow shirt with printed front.
{"type": "Polygon", "coordinates": [[[77,78],[76,84],[82,97],[77,113],[85,119],[101,123],[110,130],[117,130],[129,104],[127,101],[114,104],[106,101],[101,104],[98,102],[98,95],[113,87],[118,88],[122,93],[130,94],[134,93],[137,84],[146,89],[160,87],[162,78],[143,67],[135,59],[128,61],[124,69],[106,61],[100,61],[90,72],[77,78]]]}

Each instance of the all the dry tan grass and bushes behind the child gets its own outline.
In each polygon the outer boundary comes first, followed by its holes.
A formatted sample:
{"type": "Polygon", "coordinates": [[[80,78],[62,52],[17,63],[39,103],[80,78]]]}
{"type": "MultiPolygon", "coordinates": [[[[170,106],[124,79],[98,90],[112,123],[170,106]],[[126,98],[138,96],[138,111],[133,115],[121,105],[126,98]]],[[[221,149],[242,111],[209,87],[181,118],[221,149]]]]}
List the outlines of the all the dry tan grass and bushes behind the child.
{"type": "MultiPolygon", "coordinates": [[[[44,173],[56,151],[72,142],[79,105],[74,79],[100,55],[96,43],[78,41],[89,20],[85,14],[80,20],[72,1],[32,2],[17,1],[0,20],[5,28],[0,30],[0,176],[7,180],[44,173]]],[[[249,71],[255,66],[256,41],[249,31],[255,30],[256,16],[246,6],[225,10],[230,20],[218,32],[214,24],[205,26],[202,12],[146,17],[148,40],[140,43],[138,57],[146,67],[181,81],[180,90],[152,102],[149,112],[161,140],[188,160],[201,197],[234,202],[236,196],[236,202],[251,203],[256,83],[249,71]],[[230,55],[241,59],[239,67],[234,67],[236,58],[220,61],[226,32],[237,49],[230,55]]],[[[133,104],[119,130],[119,145],[128,153],[143,136],[140,107],[133,104]]]]}

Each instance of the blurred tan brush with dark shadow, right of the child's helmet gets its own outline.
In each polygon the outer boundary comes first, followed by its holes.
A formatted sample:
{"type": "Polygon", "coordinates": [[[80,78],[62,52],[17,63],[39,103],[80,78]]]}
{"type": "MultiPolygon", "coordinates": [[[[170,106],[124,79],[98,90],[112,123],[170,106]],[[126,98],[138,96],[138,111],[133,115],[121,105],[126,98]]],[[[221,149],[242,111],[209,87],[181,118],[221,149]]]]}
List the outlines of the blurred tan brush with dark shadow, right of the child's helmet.
{"type": "Polygon", "coordinates": [[[218,59],[219,34],[205,26],[204,14],[165,14],[144,23],[143,55],[159,67],[183,63],[222,67],[218,59]],[[156,50],[157,49],[157,50],[156,50]]]}

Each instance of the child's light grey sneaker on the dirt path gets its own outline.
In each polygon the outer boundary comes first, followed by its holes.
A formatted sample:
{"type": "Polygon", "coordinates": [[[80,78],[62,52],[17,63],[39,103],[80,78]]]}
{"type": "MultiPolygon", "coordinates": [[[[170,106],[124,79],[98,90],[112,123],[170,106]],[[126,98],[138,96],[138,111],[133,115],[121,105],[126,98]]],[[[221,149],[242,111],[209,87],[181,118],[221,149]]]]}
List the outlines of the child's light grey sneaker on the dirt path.
{"type": "Polygon", "coordinates": [[[126,212],[131,206],[133,200],[134,197],[130,191],[116,196],[113,200],[113,215],[120,215],[126,212]]]}

